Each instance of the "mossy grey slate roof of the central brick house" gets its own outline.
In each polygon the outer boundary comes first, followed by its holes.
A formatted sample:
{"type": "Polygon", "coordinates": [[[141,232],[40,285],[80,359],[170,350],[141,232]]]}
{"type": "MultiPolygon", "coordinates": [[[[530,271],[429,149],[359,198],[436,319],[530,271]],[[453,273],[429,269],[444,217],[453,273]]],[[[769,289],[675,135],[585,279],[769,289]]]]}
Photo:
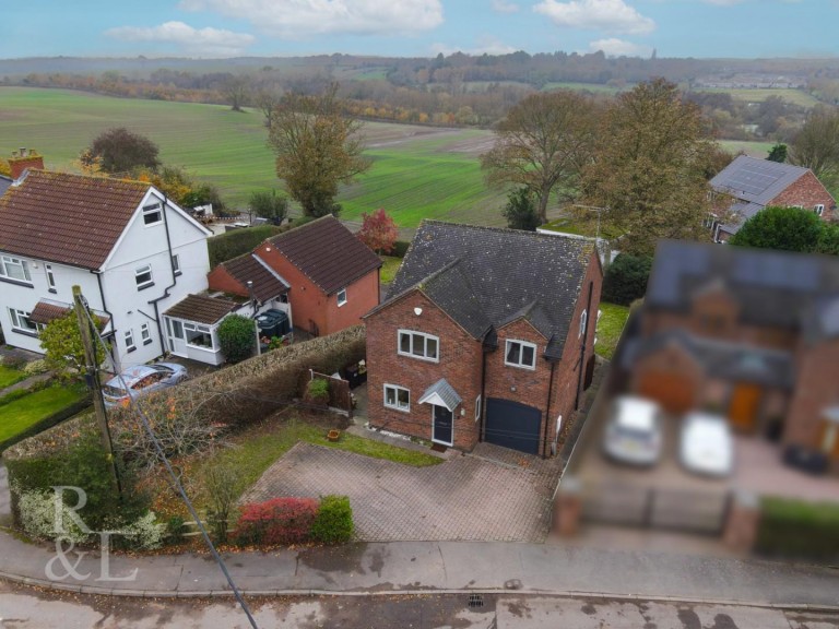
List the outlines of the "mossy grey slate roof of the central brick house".
{"type": "Polygon", "coordinates": [[[591,239],[426,219],[379,308],[416,287],[474,339],[524,318],[562,355],[593,251],[591,239]]]}

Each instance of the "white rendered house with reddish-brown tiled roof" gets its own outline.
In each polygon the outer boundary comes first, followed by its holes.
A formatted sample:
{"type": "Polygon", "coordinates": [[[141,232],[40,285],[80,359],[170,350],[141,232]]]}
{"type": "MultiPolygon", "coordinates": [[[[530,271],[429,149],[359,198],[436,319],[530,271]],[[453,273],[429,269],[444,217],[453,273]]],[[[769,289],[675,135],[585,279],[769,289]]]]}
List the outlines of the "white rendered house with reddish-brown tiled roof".
{"type": "Polygon", "coordinates": [[[163,313],[206,289],[211,232],[140,181],[27,170],[0,197],[0,325],[43,353],[39,330],[79,285],[107,320],[118,366],[166,353],[163,313]]]}

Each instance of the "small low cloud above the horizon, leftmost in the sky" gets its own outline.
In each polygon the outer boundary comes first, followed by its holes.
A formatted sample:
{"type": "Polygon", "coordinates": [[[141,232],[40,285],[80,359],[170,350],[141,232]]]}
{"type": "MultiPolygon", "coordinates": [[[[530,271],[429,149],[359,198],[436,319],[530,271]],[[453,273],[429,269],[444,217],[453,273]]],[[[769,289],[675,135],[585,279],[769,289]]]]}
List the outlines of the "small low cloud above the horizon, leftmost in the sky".
{"type": "Polygon", "coordinates": [[[159,26],[120,26],[105,35],[126,41],[157,41],[176,44],[186,52],[197,56],[235,57],[255,40],[248,33],[234,33],[218,28],[193,28],[184,22],[166,22],[159,26]]]}

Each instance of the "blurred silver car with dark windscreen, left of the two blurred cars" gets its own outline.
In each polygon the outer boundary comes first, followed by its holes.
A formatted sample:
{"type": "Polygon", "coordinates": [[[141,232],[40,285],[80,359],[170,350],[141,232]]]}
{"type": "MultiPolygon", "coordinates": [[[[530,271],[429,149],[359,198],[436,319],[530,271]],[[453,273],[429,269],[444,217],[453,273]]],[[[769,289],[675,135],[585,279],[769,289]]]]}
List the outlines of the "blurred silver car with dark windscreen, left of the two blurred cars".
{"type": "Polygon", "coordinates": [[[661,458],[661,407],[636,395],[619,395],[612,403],[606,436],[606,455],[621,463],[654,465],[661,458]]]}

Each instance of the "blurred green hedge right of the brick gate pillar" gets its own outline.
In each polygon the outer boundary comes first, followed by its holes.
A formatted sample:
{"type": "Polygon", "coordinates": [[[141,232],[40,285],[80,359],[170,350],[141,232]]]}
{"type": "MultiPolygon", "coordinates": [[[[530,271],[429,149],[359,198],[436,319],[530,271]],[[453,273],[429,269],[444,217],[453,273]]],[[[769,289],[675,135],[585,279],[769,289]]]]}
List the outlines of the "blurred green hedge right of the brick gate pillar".
{"type": "Polygon", "coordinates": [[[764,498],[755,551],[785,559],[839,561],[839,503],[764,498]]]}

